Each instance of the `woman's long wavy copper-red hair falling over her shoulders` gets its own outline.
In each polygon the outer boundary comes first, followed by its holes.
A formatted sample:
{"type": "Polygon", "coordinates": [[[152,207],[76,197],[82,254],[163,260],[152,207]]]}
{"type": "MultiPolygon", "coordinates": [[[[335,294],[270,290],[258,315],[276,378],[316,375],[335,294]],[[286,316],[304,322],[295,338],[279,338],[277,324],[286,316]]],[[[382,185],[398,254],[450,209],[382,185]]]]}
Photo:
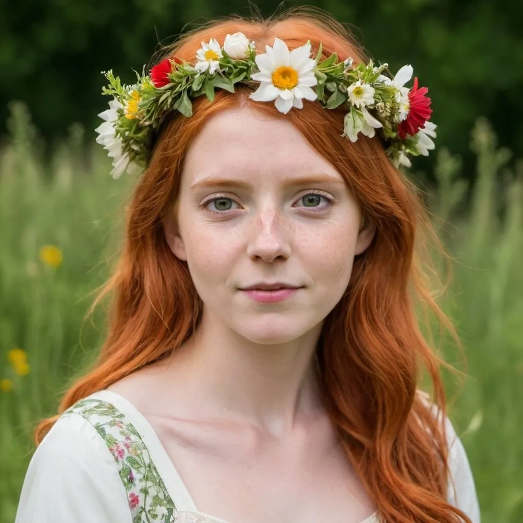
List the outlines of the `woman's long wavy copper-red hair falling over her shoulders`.
{"type": "MultiPolygon", "coordinates": [[[[368,60],[343,25],[303,8],[265,20],[214,20],[162,51],[193,61],[201,41],[216,38],[223,44],[228,33],[238,31],[254,40],[258,50],[278,37],[290,49],[310,40],[313,55],[322,42],[323,58],[336,52],[342,60],[368,60]]],[[[378,136],[360,134],[356,143],[340,136],[342,110],[306,102],[303,109],[281,115],[272,103],[249,100],[248,93],[247,87],[234,94],[219,90],[212,104],[206,97],[195,100],[191,118],[177,115],[165,122],[127,209],[116,268],[89,311],[110,295],[105,343],[92,370],[63,395],[59,414],[168,357],[198,327],[201,299],[187,263],[170,251],[163,223],[176,207],[192,140],[215,113],[248,104],[289,119],[338,169],[377,225],[371,245],[354,260],[346,292],[325,319],[315,355],[322,399],[348,459],[387,523],[451,523],[458,516],[471,523],[446,499],[449,449],[440,368],[450,366],[429,347],[415,313],[417,304],[425,305],[455,336],[429,288],[432,278],[422,270],[427,239],[434,236],[422,197],[389,162],[378,136]],[[432,383],[431,401],[440,417],[417,394],[422,376],[432,383]]],[[[35,432],[37,445],[58,417],[42,420],[35,432]]]]}

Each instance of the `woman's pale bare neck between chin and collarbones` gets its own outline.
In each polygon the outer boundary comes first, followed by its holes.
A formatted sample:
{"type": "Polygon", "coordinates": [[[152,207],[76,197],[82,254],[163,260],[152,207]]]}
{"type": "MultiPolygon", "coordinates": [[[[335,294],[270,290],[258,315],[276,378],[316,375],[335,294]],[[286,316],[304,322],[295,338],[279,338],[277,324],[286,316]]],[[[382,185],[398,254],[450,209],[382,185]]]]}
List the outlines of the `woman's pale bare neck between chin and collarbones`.
{"type": "Polygon", "coordinates": [[[257,344],[202,319],[169,360],[169,383],[183,388],[191,417],[235,418],[285,435],[322,411],[314,357],[320,332],[321,324],[291,342],[257,344]]]}

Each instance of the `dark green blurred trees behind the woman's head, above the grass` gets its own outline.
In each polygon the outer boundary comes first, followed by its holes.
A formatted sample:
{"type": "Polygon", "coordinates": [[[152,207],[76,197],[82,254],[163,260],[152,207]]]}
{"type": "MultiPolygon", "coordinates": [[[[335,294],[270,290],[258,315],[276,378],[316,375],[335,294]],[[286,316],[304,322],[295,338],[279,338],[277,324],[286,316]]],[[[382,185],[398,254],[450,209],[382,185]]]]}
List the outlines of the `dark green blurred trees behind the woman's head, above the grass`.
{"type": "MultiPolygon", "coordinates": [[[[279,2],[257,5],[269,16],[279,2]]],[[[468,131],[478,115],[493,123],[501,144],[523,154],[523,4],[316,0],[314,5],[351,24],[367,51],[388,62],[393,73],[405,63],[413,65],[433,99],[438,146],[461,153],[465,166],[471,155],[468,131]]],[[[0,134],[7,103],[17,98],[29,105],[44,137],[61,138],[78,121],[90,139],[99,123],[96,115],[107,104],[100,71],[113,69],[132,82],[132,69],[152,65],[157,44],[171,42],[188,22],[194,27],[230,13],[248,16],[251,8],[245,0],[24,0],[6,4],[2,12],[0,134]]],[[[419,164],[432,162],[422,158],[419,164]]]]}

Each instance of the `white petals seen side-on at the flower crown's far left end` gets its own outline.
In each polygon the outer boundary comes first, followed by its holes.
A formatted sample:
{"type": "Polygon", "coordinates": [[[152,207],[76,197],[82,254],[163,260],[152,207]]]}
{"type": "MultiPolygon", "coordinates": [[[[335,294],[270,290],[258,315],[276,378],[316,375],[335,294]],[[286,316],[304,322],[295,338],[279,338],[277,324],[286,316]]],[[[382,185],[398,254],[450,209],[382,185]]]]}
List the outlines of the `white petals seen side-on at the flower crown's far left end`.
{"type": "Polygon", "coordinates": [[[109,151],[108,156],[113,159],[113,169],[110,175],[115,179],[119,178],[126,170],[130,174],[142,170],[140,166],[131,162],[129,154],[122,153],[122,143],[120,138],[116,136],[115,128],[115,124],[120,118],[118,109],[123,109],[123,106],[115,97],[109,102],[109,109],[99,113],[98,116],[105,121],[95,129],[98,133],[96,143],[104,145],[104,149],[109,151]]]}

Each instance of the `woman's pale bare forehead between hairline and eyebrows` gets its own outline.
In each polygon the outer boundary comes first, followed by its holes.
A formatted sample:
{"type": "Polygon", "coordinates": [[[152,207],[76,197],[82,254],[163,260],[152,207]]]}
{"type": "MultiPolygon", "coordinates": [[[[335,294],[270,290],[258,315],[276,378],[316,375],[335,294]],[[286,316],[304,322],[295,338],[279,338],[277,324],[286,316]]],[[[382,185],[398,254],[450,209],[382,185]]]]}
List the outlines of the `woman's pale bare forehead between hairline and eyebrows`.
{"type": "Polygon", "coordinates": [[[343,181],[289,120],[241,107],[224,110],[204,124],[187,153],[183,185],[218,176],[272,183],[315,173],[343,181]]]}

